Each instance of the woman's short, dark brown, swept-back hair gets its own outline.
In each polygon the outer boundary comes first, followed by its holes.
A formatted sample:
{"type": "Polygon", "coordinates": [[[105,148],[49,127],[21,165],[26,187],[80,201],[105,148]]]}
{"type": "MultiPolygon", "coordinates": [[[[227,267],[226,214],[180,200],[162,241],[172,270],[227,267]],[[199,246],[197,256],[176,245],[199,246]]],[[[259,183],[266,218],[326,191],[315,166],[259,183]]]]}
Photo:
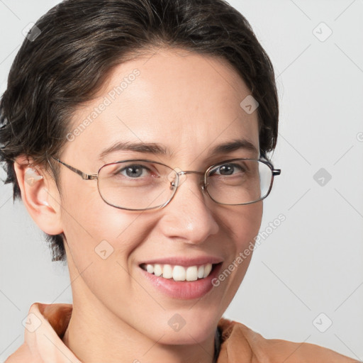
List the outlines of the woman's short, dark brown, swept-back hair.
{"type": "MultiPolygon", "coordinates": [[[[261,154],[274,150],[279,104],[272,63],[226,1],[66,0],[36,26],[40,34],[24,40],[0,101],[0,162],[14,199],[20,196],[15,158],[27,155],[46,167],[47,155],[67,143],[77,105],[94,96],[114,66],[160,45],[228,60],[259,103],[261,154]]],[[[65,261],[62,235],[47,237],[52,261],[65,261]]]]}

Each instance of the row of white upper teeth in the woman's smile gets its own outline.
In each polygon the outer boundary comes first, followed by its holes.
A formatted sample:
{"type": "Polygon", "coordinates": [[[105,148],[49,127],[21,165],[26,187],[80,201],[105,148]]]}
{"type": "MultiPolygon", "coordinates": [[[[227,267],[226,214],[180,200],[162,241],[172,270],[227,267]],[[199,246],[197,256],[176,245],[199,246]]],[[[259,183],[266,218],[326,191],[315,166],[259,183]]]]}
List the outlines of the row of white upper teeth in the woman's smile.
{"type": "Polygon", "coordinates": [[[211,273],[212,264],[202,264],[201,266],[172,266],[171,264],[147,264],[146,268],[149,274],[164,277],[164,279],[174,279],[174,281],[196,281],[204,279],[211,273]]]}

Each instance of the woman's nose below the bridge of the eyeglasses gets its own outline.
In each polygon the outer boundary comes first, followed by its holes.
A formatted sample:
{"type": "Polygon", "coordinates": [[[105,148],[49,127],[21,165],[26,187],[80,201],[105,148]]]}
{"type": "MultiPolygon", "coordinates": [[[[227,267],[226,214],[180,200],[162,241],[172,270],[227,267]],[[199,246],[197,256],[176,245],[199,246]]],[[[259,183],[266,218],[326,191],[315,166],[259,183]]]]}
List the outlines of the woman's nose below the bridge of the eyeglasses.
{"type": "Polygon", "coordinates": [[[219,226],[212,213],[216,203],[202,190],[199,175],[184,174],[180,179],[184,181],[179,182],[174,197],[162,208],[160,225],[169,238],[201,244],[209,235],[218,233],[219,226]]]}

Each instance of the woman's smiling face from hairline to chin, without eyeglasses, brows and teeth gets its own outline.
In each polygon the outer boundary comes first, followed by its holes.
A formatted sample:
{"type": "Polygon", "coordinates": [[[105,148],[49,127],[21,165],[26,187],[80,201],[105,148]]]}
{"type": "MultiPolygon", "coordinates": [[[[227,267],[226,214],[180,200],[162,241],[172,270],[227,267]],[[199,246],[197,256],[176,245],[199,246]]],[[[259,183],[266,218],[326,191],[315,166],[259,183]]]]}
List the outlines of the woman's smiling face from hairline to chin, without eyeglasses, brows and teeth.
{"type": "MultiPolygon", "coordinates": [[[[246,113],[240,106],[249,94],[223,60],[183,50],[150,53],[116,67],[97,98],[77,109],[60,160],[96,174],[106,163],[128,159],[204,172],[223,160],[258,158],[257,111],[246,113]],[[241,147],[211,154],[216,145],[236,139],[247,140],[255,151],[241,147]],[[103,153],[118,142],[157,143],[171,153],[117,147],[103,153]]],[[[128,211],[105,203],[95,180],[61,166],[74,309],[82,306],[86,315],[107,321],[110,330],[131,327],[165,344],[202,342],[214,334],[251,255],[232,272],[228,266],[257,235],[262,201],[220,205],[200,181],[199,174],[187,174],[164,208],[128,211]],[[206,279],[174,281],[142,268],[157,262],[172,268],[220,263],[206,279]],[[225,270],[229,277],[213,286],[211,278],[225,270]]]]}

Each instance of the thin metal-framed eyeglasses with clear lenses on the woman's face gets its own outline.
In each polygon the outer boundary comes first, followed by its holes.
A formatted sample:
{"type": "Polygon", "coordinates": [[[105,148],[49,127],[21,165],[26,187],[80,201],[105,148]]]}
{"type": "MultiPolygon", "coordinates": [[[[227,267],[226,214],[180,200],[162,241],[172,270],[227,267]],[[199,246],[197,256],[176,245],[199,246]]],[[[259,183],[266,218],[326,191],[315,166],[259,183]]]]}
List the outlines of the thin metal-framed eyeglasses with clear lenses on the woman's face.
{"type": "Polygon", "coordinates": [[[172,200],[184,174],[203,175],[201,189],[218,204],[239,206],[269,195],[281,169],[257,159],[231,159],[214,164],[206,172],[177,171],[152,160],[110,162],[97,174],[86,174],[52,157],[84,180],[97,180],[101,198],[110,206],[129,211],[163,208],[172,200]]]}

